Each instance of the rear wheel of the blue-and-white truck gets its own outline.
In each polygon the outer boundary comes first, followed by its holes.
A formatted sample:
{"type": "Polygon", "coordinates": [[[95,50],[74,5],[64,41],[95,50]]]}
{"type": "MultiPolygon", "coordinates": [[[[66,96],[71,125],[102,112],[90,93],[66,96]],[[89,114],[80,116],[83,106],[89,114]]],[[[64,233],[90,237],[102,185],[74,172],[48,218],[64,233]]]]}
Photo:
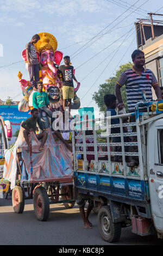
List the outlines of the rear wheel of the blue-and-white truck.
{"type": "Polygon", "coordinates": [[[121,236],[121,223],[112,221],[109,206],[102,206],[98,212],[98,228],[102,238],[106,242],[116,242],[121,236]]]}

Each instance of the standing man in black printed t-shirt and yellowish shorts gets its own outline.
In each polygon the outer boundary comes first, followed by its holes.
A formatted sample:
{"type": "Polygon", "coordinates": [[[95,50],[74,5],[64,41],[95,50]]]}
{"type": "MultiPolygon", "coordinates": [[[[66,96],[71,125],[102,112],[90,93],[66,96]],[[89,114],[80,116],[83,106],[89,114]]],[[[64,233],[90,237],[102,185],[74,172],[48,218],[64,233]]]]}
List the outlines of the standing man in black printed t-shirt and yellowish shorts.
{"type": "Polygon", "coordinates": [[[70,57],[64,57],[65,65],[61,65],[59,70],[62,74],[62,95],[63,95],[63,108],[69,107],[69,112],[71,111],[71,100],[74,98],[74,87],[73,80],[78,83],[76,77],[73,74],[73,66],[70,65],[70,57]]]}

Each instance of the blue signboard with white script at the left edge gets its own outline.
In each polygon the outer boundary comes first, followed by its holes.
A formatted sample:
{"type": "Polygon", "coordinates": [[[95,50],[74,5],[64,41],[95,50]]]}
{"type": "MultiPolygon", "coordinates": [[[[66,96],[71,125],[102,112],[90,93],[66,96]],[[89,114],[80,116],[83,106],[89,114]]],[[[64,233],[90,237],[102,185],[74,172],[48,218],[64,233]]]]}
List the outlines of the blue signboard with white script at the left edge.
{"type": "Polygon", "coordinates": [[[31,117],[28,112],[18,111],[17,105],[0,105],[0,115],[3,117],[3,120],[9,120],[12,126],[12,136],[14,136],[17,130],[20,130],[20,125],[22,121],[31,117]]]}

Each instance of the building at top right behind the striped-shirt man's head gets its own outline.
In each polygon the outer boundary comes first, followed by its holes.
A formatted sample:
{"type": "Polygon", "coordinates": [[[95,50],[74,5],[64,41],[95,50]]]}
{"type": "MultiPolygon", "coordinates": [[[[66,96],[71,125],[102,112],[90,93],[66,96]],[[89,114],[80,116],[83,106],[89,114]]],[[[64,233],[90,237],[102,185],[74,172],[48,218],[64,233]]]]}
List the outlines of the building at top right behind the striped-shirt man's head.
{"type": "MultiPolygon", "coordinates": [[[[139,19],[135,23],[137,48],[145,53],[146,68],[154,72],[163,87],[163,14],[148,15],[149,19],[139,19]],[[155,20],[153,16],[160,19],[155,20]]],[[[153,97],[156,99],[154,90],[153,97]]]]}

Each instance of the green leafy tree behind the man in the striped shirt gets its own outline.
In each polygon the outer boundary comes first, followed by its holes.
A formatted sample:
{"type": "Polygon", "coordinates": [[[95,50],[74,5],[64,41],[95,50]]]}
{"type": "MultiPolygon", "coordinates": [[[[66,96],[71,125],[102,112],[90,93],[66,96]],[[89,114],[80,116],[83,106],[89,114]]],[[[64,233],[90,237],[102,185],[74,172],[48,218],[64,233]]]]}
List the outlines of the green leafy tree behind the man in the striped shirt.
{"type": "MultiPolygon", "coordinates": [[[[95,100],[100,111],[106,111],[106,106],[104,105],[104,95],[115,94],[115,84],[117,80],[120,78],[121,73],[124,70],[130,69],[131,66],[133,66],[131,62],[121,65],[120,68],[116,71],[115,76],[112,76],[112,77],[109,77],[109,79],[106,79],[105,80],[106,83],[99,85],[98,92],[93,93],[92,99],[95,100]]],[[[125,105],[126,111],[128,111],[127,94],[126,94],[125,86],[121,88],[121,95],[122,95],[122,100],[125,105]]]]}

